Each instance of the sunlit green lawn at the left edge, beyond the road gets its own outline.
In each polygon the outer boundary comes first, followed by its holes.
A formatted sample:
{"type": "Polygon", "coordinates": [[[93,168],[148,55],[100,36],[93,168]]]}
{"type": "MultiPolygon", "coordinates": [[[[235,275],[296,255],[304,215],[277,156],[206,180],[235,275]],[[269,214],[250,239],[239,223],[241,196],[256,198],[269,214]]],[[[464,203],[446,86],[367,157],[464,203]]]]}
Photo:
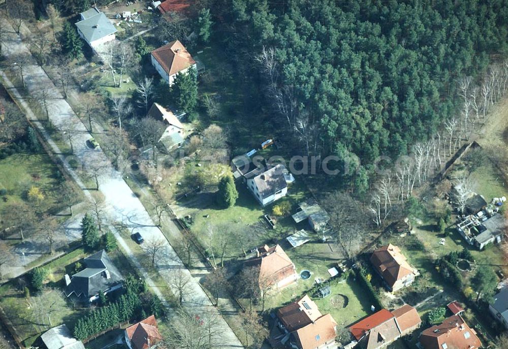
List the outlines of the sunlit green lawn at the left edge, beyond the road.
{"type": "Polygon", "coordinates": [[[45,211],[60,207],[54,192],[57,171],[47,154],[16,153],[0,160],[0,189],[7,189],[7,202],[0,200],[0,214],[9,205],[26,201],[26,193],[33,185],[44,195],[45,211]]]}

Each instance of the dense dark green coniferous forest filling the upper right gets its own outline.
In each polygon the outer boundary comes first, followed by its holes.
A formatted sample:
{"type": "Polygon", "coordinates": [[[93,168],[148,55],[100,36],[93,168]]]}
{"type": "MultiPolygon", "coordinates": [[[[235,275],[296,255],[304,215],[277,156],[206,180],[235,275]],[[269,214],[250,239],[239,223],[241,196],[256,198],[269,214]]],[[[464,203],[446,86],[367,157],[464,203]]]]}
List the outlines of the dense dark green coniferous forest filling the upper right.
{"type": "Polygon", "coordinates": [[[503,0],[219,0],[225,45],[308,154],[398,155],[506,52],[503,0]],[[254,57],[254,58],[253,58],[254,57]],[[261,74],[260,74],[261,73],[261,74]]]}

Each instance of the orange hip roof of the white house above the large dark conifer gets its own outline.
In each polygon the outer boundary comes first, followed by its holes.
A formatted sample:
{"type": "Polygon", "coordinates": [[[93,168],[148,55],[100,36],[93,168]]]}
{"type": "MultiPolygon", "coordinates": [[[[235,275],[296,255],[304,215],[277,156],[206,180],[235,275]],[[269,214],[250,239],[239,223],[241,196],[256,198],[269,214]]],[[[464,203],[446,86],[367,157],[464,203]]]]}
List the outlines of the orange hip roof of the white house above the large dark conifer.
{"type": "Polygon", "coordinates": [[[178,40],[153,50],[151,54],[170,76],[196,64],[194,58],[178,40]]]}

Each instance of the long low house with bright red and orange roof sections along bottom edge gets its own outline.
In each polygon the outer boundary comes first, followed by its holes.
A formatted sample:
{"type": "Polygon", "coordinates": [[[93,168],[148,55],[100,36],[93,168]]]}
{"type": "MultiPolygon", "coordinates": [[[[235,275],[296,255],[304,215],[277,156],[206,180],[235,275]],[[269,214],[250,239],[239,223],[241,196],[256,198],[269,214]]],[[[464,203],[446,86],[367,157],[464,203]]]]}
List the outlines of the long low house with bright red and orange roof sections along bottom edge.
{"type": "Polygon", "coordinates": [[[422,320],[417,310],[403,305],[393,311],[387,309],[368,316],[350,327],[350,331],[364,349],[378,349],[417,329],[422,320]]]}

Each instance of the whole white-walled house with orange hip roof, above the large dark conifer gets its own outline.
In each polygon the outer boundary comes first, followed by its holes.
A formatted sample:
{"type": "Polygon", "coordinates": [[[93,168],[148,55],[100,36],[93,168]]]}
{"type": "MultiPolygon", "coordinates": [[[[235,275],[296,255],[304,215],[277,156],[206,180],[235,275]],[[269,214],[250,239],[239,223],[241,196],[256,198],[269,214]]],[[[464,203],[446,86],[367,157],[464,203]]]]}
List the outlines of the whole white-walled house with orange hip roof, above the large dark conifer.
{"type": "MultiPolygon", "coordinates": [[[[164,3],[159,8],[163,5],[164,3]]],[[[153,50],[151,62],[153,68],[170,86],[173,85],[176,74],[185,74],[190,67],[196,69],[196,61],[178,40],[153,50]]],[[[195,71],[197,73],[197,70],[195,71]]]]}

